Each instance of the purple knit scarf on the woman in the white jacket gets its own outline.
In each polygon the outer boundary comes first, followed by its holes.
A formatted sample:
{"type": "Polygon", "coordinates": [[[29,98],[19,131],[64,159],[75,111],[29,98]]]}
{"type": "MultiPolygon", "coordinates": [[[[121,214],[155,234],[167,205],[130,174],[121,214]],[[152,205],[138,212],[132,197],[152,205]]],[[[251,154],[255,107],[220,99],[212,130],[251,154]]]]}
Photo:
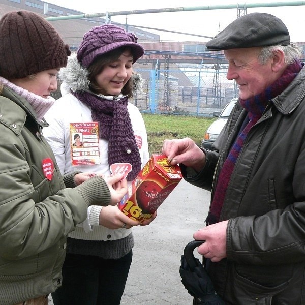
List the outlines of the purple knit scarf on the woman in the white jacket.
{"type": "Polygon", "coordinates": [[[99,137],[108,140],[108,164],[130,163],[132,171],[127,180],[134,180],[141,170],[141,157],[127,110],[127,97],[109,101],[89,92],[72,94],[91,107],[92,120],[99,123],[99,137]]]}

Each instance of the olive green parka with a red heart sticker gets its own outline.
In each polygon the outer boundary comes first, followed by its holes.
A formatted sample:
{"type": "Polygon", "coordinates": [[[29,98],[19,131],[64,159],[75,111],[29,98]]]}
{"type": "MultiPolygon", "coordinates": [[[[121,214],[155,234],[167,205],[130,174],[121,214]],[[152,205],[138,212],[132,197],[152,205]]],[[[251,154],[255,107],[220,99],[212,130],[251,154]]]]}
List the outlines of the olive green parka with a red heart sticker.
{"type": "Polygon", "coordinates": [[[109,203],[104,179],[97,176],[76,186],[74,175],[64,180],[75,188],[66,188],[32,106],[4,87],[0,96],[1,305],[59,287],[68,233],[85,220],[89,205],[109,203]],[[54,165],[46,175],[45,161],[54,165]]]}

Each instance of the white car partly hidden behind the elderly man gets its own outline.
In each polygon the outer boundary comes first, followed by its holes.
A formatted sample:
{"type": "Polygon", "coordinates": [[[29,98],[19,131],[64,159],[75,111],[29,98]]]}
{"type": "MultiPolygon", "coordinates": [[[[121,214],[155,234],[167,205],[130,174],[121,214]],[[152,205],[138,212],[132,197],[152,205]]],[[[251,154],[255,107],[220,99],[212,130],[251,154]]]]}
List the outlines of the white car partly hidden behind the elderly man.
{"type": "Polygon", "coordinates": [[[202,147],[205,149],[211,149],[212,144],[215,142],[219,136],[221,130],[226,125],[229,115],[237,102],[238,98],[232,99],[222,110],[219,112],[214,112],[214,116],[218,116],[218,119],[215,120],[207,129],[204,139],[202,140],[202,147]]]}

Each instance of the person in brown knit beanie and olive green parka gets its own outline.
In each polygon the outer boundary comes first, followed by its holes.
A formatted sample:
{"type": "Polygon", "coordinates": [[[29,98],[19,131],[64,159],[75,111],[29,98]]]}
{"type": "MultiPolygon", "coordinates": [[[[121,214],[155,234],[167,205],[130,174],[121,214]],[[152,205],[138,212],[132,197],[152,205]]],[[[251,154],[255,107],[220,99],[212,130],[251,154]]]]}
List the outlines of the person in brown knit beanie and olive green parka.
{"type": "Polygon", "coordinates": [[[11,12],[0,20],[2,305],[47,305],[63,281],[68,233],[86,219],[88,206],[114,205],[127,192],[123,175],[108,178],[110,187],[80,171],[62,178],[43,137],[42,118],[54,103],[49,94],[68,55],[68,45],[37,14],[11,12]]]}

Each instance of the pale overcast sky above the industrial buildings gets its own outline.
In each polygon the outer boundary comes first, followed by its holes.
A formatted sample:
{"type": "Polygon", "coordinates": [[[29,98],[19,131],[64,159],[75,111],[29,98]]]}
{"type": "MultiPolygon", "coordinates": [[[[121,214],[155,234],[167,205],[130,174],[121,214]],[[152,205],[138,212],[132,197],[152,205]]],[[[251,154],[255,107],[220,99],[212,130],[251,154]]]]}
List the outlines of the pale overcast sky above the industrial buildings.
{"type": "MultiPolygon", "coordinates": [[[[271,1],[271,0],[247,0],[238,2],[233,0],[151,0],[148,2],[136,3],[136,1],[96,1],[96,0],[49,0],[49,3],[57,4],[70,9],[75,9],[87,14],[147,10],[175,7],[200,7],[216,5],[237,5],[243,6],[244,3],[262,4],[262,3],[295,3],[295,1],[271,1]]],[[[304,2],[305,4],[305,2],[304,2]]],[[[275,15],[282,19],[286,24],[291,41],[305,41],[305,5],[303,6],[285,6],[269,8],[248,8],[247,13],[262,12],[275,15]]],[[[221,10],[203,10],[187,12],[170,13],[150,13],[137,15],[112,16],[114,22],[148,26],[153,28],[168,29],[183,33],[193,33],[204,36],[214,37],[219,31],[222,31],[230,22],[237,18],[237,9],[221,10]]],[[[143,28],[145,30],[145,28],[143,28]]],[[[208,41],[208,38],[186,36],[167,32],[146,31],[160,35],[162,41],[208,41]]]]}

